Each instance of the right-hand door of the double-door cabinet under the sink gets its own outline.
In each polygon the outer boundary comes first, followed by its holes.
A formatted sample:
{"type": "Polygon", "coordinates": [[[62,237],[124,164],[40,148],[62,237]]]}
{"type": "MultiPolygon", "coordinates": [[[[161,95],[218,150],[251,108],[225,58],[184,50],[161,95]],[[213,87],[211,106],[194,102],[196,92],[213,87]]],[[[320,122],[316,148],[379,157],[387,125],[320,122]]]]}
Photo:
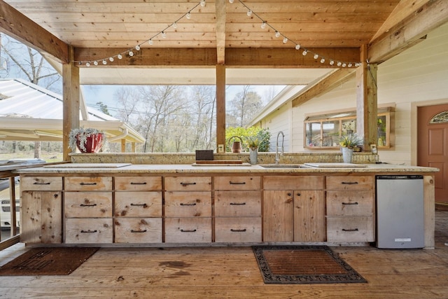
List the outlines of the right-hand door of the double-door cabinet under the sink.
{"type": "Polygon", "coordinates": [[[325,232],[325,197],[323,190],[294,192],[294,241],[323,242],[325,232]]]}

